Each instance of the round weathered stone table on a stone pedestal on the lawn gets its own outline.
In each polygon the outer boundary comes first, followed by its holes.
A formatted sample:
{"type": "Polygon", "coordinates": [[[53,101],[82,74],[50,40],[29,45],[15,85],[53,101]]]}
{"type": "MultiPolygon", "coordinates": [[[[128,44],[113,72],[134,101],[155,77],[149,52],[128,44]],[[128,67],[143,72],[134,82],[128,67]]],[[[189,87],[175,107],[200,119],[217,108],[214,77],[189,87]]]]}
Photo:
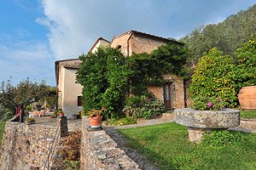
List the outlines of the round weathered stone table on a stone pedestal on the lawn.
{"type": "Polygon", "coordinates": [[[196,111],[190,108],[176,109],[175,122],[188,126],[189,140],[199,143],[203,133],[212,129],[237,127],[240,124],[240,111],[224,109],[220,111],[196,111]]]}

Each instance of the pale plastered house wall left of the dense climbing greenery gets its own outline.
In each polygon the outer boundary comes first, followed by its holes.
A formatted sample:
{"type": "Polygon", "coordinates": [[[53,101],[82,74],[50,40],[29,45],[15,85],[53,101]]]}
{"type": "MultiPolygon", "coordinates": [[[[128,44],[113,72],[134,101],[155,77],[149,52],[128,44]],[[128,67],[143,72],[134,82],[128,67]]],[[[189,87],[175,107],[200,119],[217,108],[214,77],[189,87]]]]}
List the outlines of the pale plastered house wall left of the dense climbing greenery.
{"type": "Polygon", "coordinates": [[[78,106],[78,96],[82,95],[82,86],[75,83],[76,71],[76,69],[63,68],[62,110],[67,118],[72,118],[73,114],[78,114],[83,109],[78,106]]]}

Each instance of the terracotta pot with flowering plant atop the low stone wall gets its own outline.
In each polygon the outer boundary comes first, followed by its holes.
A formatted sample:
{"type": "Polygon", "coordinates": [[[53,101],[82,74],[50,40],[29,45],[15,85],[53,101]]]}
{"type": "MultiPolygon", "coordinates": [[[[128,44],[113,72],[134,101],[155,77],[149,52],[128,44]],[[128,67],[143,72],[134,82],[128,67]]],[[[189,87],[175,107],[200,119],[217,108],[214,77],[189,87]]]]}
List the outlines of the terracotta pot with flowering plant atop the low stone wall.
{"type": "Polygon", "coordinates": [[[91,128],[102,128],[102,111],[91,110],[88,112],[91,128]]]}

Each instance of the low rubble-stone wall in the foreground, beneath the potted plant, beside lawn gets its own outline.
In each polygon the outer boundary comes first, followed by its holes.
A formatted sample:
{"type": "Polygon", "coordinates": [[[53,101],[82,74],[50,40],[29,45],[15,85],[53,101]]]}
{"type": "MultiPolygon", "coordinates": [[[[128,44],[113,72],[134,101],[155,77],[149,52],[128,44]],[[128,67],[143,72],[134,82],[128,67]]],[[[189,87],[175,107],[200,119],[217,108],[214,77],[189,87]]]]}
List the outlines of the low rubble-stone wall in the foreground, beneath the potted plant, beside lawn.
{"type": "Polygon", "coordinates": [[[80,169],[139,169],[135,161],[125,155],[104,130],[88,131],[89,120],[82,118],[80,169]]]}

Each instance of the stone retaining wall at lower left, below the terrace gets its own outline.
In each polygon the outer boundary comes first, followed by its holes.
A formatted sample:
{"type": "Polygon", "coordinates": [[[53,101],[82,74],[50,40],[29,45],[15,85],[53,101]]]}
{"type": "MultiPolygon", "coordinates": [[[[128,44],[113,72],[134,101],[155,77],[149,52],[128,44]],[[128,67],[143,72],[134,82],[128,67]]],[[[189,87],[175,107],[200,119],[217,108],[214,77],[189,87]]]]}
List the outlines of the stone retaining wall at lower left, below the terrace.
{"type": "Polygon", "coordinates": [[[7,122],[3,133],[1,170],[47,169],[59,142],[60,123],[7,122]]]}

